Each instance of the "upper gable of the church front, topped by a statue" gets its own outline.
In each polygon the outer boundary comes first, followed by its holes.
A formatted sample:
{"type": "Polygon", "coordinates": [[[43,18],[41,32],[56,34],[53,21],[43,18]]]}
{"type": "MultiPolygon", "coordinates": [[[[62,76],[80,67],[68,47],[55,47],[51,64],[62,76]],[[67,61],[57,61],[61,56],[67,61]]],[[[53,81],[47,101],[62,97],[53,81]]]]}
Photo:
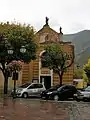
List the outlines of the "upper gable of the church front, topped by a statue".
{"type": "MultiPolygon", "coordinates": [[[[38,36],[39,40],[38,43],[56,43],[61,41],[62,33],[58,33],[52,28],[50,28],[48,24],[48,18],[46,17],[46,24],[43,26],[41,30],[39,30],[36,33],[36,36],[38,36]]],[[[60,29],[61,30],[61,29],[60,29]]]]}

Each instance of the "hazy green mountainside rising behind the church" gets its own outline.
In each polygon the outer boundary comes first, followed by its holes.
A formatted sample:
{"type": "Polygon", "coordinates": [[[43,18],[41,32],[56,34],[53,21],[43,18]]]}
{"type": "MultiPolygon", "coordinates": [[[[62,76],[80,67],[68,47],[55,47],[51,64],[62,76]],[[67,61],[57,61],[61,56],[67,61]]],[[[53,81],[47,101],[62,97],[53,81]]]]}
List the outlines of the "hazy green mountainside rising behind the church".
{"type": "Polygon", "coordinates": [[[90,57],[90,30],[63,36],[64,41],[71,41],[75,46],[76,62],[83,66],[90,57]]]}

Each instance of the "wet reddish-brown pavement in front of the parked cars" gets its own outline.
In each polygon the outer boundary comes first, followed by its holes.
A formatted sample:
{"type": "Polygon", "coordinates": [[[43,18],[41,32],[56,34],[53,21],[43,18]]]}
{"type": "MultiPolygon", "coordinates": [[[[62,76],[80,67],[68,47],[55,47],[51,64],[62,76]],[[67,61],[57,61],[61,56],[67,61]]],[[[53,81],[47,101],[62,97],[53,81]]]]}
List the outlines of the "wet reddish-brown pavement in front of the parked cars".
{"type": "Polygon", "coordinates": [[[90,120],[90,103],[0,98],[0,120],[90,120]]]}

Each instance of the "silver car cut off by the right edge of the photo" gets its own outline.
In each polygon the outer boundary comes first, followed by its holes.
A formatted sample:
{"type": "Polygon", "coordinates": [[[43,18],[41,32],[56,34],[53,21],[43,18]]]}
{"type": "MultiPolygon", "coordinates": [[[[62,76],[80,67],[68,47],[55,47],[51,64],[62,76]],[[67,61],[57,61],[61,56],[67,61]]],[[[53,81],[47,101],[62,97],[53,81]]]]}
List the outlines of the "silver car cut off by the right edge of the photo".
{"type": "Polygon", "coordinates": [[[86,100],[90,100],[90,86],[88,86],[87,88],[83,89],[83,90],[79,90],[79,93],[77,93],[76,95],[76,100],[80,101],[86,101],[86,100]]]}

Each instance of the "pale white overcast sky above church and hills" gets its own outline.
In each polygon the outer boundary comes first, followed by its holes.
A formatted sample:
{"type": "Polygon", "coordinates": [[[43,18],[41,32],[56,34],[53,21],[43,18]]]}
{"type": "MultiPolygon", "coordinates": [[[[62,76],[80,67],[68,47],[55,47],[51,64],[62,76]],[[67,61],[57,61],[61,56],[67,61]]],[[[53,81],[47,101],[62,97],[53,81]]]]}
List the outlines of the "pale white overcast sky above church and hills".
{"type": "Polygon", "coordinates": [[[64,34],[90,29],[90,0],[1,0],[0,22],[31,24],[39,30],[45,24],[64,34]]]}

